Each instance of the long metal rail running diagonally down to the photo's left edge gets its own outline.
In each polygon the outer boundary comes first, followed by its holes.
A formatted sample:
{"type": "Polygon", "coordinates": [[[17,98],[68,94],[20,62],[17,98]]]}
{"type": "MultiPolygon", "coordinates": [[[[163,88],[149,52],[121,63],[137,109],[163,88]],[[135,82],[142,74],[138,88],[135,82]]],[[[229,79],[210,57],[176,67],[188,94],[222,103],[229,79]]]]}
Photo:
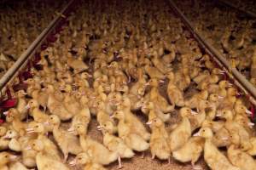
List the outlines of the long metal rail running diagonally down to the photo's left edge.
{"type": "Polygon", "coordinates": [[[36,53],[38,48],[41,47],[41,44],[44,43],[44,40],[49,36],[51,31],[53,31],[58,23],[60,23],[61,17],[63,17],[61,15],[67,12],[67,9],[72,5],[73,2],[74,0],[71,0],[64,8],[62,8],[60,14],[58,14],[58,16],[56,16],[55,19],[49,23],[49,26],[47,26],[44,31],[41,32],[41,34],[32,42],[29,48],[27,48],[26,51],[20,55],[15,64],[12,65],[8,71],[6,71],[3,77],[1,77],[0,91],[3,92],[5,90],[5,86],[10,82],[10,80],[15,77],[22,68],[26,66],[28,59],[30,59],[33,54],[36,53]]]}

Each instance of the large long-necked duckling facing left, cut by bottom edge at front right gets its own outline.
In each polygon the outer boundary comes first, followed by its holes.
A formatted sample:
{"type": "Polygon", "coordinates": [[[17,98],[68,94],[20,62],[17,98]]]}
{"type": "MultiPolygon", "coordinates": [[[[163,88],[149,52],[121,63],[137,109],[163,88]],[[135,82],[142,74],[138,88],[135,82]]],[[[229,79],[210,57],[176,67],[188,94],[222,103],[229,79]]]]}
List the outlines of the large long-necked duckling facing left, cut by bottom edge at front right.
{"type": "Polygon", "coordinates": [[[209,127],[201,127],[194,136],[201,136],[206,139],[204,144],[204,159],[212,170],[239,170],[239,167],[233,166],[218,148],[212,144],[212,130],[209,127]]]}

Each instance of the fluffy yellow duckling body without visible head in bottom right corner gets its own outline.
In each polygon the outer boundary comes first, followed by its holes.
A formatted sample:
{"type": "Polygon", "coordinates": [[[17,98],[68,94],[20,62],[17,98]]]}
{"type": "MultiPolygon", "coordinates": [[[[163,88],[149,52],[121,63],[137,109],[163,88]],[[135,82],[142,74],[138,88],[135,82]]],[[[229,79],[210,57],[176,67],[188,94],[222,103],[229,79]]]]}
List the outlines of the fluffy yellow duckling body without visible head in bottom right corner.
{"type": "Polygon", "coordinates": [[[227,153],[229,160],[234,166],[244,170],[256,168],[256,161],[253,157],[246,152],[237,149],[234,144],[230,145],[227,153]]]}

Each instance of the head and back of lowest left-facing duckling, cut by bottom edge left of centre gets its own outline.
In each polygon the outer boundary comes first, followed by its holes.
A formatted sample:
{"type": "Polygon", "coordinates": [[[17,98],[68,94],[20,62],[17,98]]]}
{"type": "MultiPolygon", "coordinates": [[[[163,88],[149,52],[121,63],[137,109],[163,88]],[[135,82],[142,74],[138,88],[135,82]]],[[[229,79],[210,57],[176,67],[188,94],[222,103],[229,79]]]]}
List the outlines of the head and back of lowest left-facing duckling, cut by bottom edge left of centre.
{"type": "Polygon", "coordinates": [[[90,156],[86,153],[80,153],[78,156],[76,156],[73,161],[69,162],[69,165],[75,166],[75,165],[82,165],[84,166],[84,170],[106,170],[105,167],[103,167],[101,164],[98,164],[96,162],[93,162],[90,156]]]}

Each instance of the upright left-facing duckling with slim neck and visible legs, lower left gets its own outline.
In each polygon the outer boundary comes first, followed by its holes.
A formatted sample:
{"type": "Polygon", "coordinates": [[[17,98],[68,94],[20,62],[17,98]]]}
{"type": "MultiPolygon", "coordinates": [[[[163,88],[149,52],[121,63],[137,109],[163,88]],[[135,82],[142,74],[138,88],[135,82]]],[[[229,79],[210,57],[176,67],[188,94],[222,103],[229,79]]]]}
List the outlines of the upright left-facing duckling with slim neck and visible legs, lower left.
{"type": "Polygon", "coordinates": [[[67,133],[65,130],[60,128],[61,121],[58,116],[49,116],[49,123],[54,126],[53,135],[55,141],[61,148],[65,162],[67,161],[68,153],[78,155],[82,151],[82,148],[79,144],[79,139],[75,135],[67,133]]]}

